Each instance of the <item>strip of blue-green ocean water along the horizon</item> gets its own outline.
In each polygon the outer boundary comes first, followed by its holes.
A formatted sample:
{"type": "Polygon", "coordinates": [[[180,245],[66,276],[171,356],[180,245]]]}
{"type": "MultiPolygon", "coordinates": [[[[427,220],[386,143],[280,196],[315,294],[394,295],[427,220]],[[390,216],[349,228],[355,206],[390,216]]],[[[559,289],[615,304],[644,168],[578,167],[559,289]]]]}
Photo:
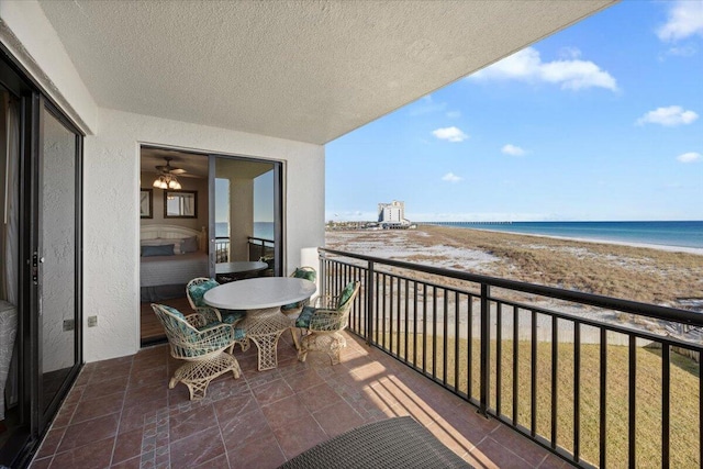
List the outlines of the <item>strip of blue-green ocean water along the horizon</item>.
{"type": "Polygon", "coordinates": [[[703,248],[703,221],[427,223],[499,232],[703,248]]]}

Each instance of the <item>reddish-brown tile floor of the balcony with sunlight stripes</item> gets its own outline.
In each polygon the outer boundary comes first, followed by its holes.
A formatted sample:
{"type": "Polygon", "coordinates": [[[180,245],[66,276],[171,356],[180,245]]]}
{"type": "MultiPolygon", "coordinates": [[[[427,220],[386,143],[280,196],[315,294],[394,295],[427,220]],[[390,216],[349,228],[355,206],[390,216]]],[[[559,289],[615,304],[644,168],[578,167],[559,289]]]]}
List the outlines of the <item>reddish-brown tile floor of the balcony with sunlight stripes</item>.
{"type": "Polygon", "coordinates": [[[275,468],[368,422],[412,415],[477,468],[569,467],[534,443],[386,354],[347,334],[343,362],[295,358],[290,334],[279,367],[256,370],[256,347],[235,356],[243,376],[211,382],[189,401],[168,389],[181,365],[167,346],[88,364],[32,468],[275,468]]]}

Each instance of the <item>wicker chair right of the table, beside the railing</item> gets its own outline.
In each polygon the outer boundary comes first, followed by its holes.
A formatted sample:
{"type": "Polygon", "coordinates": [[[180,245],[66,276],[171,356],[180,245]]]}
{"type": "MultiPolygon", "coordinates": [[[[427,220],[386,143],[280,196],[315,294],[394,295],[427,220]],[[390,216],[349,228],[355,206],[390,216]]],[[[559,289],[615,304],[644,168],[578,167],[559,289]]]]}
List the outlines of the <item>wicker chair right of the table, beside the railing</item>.
{"type": "Polygon", "coordinates": [[[298,359],[305,361],[311,350],[324,350],[330,356],[332,365],[339,362],[339,351],[347,346],[347,342],[339,331],[349,322],[349,313],[354,299],[359,292],[360,283],[353,281],[342,290],[335,306],[312,308],[304,306],[295,320],[295,327],[306,331],[300,344],[293,335],[298,347],[298,359]]]}

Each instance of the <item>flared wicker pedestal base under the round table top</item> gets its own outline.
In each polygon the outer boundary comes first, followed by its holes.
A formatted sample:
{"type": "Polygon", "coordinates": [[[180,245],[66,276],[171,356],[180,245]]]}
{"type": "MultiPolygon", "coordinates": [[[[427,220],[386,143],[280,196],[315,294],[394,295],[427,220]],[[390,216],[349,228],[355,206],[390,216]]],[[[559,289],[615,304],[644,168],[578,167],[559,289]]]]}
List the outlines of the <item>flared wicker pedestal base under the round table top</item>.
{"type": "Polygon", "coordinates": [[[281,313],[279,306],[247,311],[246,317],[242,321],[239,327],[246,331],[246,336],[258,348],[259,371],[278,367],[276,354],[278,339],[292,325],[293,322],[281,313]]]}

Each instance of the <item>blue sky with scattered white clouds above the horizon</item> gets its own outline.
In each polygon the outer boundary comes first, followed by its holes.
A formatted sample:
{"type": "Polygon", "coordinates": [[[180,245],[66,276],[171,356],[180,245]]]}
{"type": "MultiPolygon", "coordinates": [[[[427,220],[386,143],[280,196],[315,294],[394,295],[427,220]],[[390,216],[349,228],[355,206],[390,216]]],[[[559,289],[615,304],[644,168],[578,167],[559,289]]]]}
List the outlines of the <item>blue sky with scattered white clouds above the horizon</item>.
{"type": "Polygon", "coordinates": [[[703,220],[703,1],[623,1],[325,152],[327,220],[703,220]]]}

